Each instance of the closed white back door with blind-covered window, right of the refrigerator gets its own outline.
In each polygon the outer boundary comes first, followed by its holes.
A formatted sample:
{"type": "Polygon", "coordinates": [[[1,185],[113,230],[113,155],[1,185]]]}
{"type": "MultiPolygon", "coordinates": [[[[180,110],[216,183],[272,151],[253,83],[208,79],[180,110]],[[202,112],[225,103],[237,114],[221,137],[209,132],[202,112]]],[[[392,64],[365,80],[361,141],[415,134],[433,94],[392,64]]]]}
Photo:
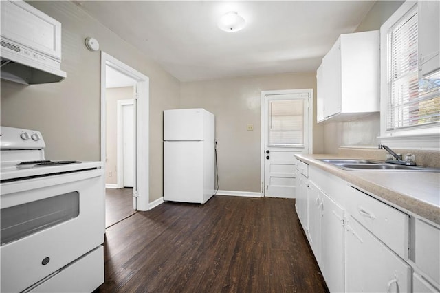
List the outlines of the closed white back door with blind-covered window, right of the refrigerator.
{"type": "Polygon", "coordinates": [[[309,153],[311,90],[265,96],[264,195],[296,198],[295,153],[309,153]]]}

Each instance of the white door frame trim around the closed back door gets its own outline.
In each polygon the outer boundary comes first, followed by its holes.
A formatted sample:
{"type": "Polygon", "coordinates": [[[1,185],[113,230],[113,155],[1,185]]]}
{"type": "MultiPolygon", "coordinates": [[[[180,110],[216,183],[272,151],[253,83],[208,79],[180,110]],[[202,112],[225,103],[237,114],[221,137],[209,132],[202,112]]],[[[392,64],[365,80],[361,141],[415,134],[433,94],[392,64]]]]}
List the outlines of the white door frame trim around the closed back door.
{"type": "Polygon", "coordinates": [[[314,149],[314,90],[313,89],[281,89],[274,91],[261,91],[261,149],[260,149],[260,174],[261,174],[261,197],[265,197],[265,140],[266,140],[266,102],[265,97],[270,95],[284,95],[284,94],[309,94],[309,119],[308,119],[308,137],[309,152],[313,153],[314,149]]]}

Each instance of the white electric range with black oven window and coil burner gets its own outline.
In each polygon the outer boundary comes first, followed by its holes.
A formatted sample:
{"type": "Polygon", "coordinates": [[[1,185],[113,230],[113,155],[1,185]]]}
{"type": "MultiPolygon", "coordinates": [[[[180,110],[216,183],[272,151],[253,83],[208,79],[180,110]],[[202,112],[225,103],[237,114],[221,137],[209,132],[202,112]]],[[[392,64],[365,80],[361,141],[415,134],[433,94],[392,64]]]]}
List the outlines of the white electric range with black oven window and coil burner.
{"type": "Polygon", "coordinates": [[[102,162],[45,160],[39,131],[1,127],[1,292],[104,282],[102,162]]]}

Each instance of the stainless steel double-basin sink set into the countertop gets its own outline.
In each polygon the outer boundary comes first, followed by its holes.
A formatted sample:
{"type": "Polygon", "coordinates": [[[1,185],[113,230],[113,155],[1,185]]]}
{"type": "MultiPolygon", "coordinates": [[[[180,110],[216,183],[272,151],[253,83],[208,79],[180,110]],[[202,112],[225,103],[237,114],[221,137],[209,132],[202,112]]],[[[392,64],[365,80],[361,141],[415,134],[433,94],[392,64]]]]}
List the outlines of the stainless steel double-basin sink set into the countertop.
{"type": "Polygon", "coordinates": [[[343,170],[353,171],[422,171],[440,172],[440,168],[428,168],[424,166],[406,166],[400,164],[386,163],[380,160],[356,160],[356,159],[320,159],[322,162],[332,164],[343,170]]]}

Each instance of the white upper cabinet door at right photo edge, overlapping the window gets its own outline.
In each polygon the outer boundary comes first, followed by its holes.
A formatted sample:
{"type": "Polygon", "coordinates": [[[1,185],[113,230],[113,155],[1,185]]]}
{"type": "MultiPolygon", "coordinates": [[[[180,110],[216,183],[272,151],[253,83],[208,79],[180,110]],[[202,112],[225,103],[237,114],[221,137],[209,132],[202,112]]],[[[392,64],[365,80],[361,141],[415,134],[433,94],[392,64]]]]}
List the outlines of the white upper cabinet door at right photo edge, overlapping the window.
{"type": "Polygon", "coordinates": [[[417,1],[419,78],[440,69],[440,1],[417,1]]]}

